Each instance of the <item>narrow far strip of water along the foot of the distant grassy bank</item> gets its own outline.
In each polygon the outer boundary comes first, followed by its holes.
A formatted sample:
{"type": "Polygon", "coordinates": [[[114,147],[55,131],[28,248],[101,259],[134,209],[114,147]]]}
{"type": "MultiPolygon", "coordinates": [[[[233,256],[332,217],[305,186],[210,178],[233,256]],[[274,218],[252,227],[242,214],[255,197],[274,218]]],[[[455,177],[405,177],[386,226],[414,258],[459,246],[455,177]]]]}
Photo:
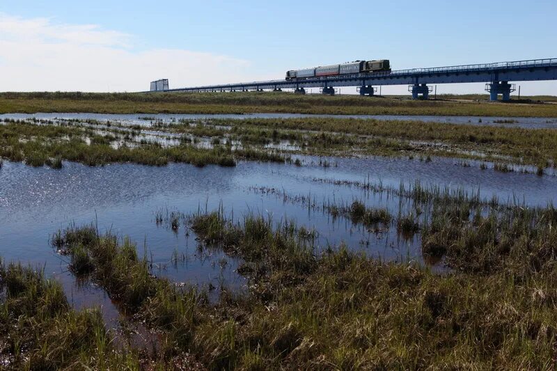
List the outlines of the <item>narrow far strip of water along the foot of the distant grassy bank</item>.
{"type": "Polygon", "coordinates": [[[109,113],[4,113],[0,120],[24,120],[37,118],[44,120],[99,120],[119,121],[130,125],[149,125],[150,120],[208,120],[208,119],[249,119],[249,118],[362,118],[376,120],[413,120],[426,123],[451,123],[464,125],[524,127],[530,129],[557,128],[557,118],[537,117],[489,117],[489,116],[406,116],[406,115],[313,115],[304,113],[246,113],[246,114],[109,114],[109,113]]]}

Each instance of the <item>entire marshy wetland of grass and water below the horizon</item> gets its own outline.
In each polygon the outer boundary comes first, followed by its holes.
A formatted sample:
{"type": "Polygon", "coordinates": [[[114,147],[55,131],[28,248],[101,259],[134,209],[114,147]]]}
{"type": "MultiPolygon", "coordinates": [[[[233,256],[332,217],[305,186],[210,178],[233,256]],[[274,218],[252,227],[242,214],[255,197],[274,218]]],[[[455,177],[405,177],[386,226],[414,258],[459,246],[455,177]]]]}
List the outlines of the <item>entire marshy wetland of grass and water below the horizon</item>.
{"type": "Polygon", "coordinates": [[[216,96],[0,96],[1,367],[554,367],[551,104],[216,96]]]}

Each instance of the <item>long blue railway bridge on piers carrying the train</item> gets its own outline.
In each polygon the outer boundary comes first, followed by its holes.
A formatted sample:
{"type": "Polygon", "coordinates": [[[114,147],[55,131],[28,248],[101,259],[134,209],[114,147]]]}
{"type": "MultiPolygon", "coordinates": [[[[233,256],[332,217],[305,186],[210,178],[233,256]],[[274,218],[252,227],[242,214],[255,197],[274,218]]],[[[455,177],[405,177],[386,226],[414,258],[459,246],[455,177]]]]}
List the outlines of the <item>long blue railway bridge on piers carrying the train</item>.
{"type": "MultiPolygon", "coordinates": [[[[295,93],[306,93],[305,88],[320,88],[323,94],[334,95],[335,87],[356,86],[360,95],[374,95],[377,86],[407,85],[414,99],[421,95],[427,99],[432,92],[430,84],[461,84],[485,82],[490,100],[510,100],[515,91],[514,81],[557,80],[557,58],[533,59],[475,65],[454,65],[436,68],[413,68],[391,72],[340,74],[328,77],[310,77],[290,80],[252,81],[237,84],[194,86],[191,88],[164,89],[168,92],[217,92],[275,90],[285,88],[295,93]]],[[[160,90],[158,90],[160,91],[160,90]]]]}

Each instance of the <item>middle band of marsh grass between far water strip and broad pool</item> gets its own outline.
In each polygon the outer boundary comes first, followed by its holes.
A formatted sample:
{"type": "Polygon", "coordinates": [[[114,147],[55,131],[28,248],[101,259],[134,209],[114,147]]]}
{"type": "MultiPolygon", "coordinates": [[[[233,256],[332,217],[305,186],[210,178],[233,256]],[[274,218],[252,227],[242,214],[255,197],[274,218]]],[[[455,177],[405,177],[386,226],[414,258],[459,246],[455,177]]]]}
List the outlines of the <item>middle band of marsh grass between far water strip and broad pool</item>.
{"type": "MultiPolygon", "coordinates": [[[[256,161],[292,161],[288,155],[265,148],[269,143],[288,141],[288,150],[281,152],[319,156],[382,155],[418,158],[432,161],[432,156],[478,159],[496,163],[498,171],[508,163],[535,166],[532,173],[542,175],[536,168],[556,163],[557,134],[553,129],[524,129],[517,127],[482,127],[448,123],[421,123],[403,120],[359,120],[347,118],[288,118],[206,120],[192,123],[173,120],[154,123],[154,127],[178,137],[178,145],[160,145],[146,139],[126,139],[133,133],[141,136],[141,127],[125,128],[118,123],[93,123],[69,120],[63,123],[12,122],[8,120],[3,132],[0,155],[13,161],[26,161],[31,166],[54,164],[57,168],[67,159],[86,164],[131,161],[139,164],[164,165],[187,162],[203,166],[221,164],[233,166],[237,159],[256,161]],[[56,129],[49,129],[56,127],[56,129]],[[17,130],[21,129],[21,130],[17,130]],[[95,131],[96,130],[96,131],[95,131]],[[97,131],[104,130],[104,135],[97,131]],[[127,131],[126,131],[127,130],[127,131]],[[131,132],[130,132],[131,130],[131,132]],[[91,144],[84,143],[87,137],[91,144]],[[213,148],[199,148],[199,138],[212,143],[213,148]],[[123,145],[113,143],[123,139],[123,145]],[[220,145],[226,141],[226,145],[220,145]],[[241,145],[233,150],[233,141],[241,145]],[[56,143],[70,143],[66,148],[54,148],[56,143]],[[48,147],[45,152],[45,147],[48,147]],[[71,147],[74,150],[70,150],[71,147]],[[27,148],[22,154],[22,148],[27,148]],[[79,156],[75,154],[79,152],[79,156]],[[500,164],[501,166],[498,166],[500,164]]],[[[131,138],[131,136],[130,136],[131,138]]],[[[174,141],[175,138],[173,138],[174,141]]],[[[329,162],[322,163],[329,166],[329,162]]]]}

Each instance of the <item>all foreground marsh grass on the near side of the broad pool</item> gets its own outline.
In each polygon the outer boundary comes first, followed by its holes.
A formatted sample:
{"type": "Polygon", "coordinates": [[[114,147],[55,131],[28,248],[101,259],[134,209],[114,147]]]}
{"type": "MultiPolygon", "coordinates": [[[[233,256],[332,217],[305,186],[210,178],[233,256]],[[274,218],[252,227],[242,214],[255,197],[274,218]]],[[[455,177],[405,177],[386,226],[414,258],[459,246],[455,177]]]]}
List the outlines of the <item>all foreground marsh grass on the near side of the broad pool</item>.
{"type": "MultiPolygon", "coordinates": [[[[186,223],[202,246],[243,260],[238,271],[249,278],[248,290],[235,295],[223,290],[213,303],[203,292],[154,276],[146,254],[141,257],[125,237],[71,226],[56,233],[52,244],[70,257],[74,274],[103,287],[134,320],[158,331],[164,342],[151,361],[161,365],[189,354],[213,370],[551,367],[557,334],[553,206],[501,204],[417,183],[398,189],[358,185],[411,200],[410,211],[398,212],[398,230],[421,230],[424,253],[445,255],[453,270],[437,275],[412,262],[370,259],[343,245],[318,249],[311,231],[269,216],[246,214],[233,221],[222,208],[168,214],[170,226],[186,223]]],[[[392,220],[358,200],[335,209],[364,223],[392,220]]],[[[162,212],[156,219],[164,220],[162,212]]],[[[2,265],[0,284],[6,292],[0,303],[10,306],[0,310],[0,329],[19,331],[10,332],[11,345],[1,351],[13,365],[26,365],[36,354],[50,354],[56,368],[76,359],[93,368],[138,362],[133,349],[111,356],[100,351],[100,345],[111,349],[102,340],[110,339],[106,330],[93,345],[85,337],[43,352],[42,347],[56,347],[32,345],[43,344],[42,337],[51,333],[42,331],[44,321],[56,334],[75,336],[60,316],[93,316],[79,326],[84,334],[99,333],[100,319],[94,311],[71,310],[59,286],[40,271],[2,265]],[[29,292],[29,299],[21,299],[22,292],[29,292]],[[44,308],[37,305],[42,300],[49,303],[44,308]],[[56,321],[49,322],[51,317],[56,321]],[[19,339],[26,346],[19,346],[19,339]]]]}

